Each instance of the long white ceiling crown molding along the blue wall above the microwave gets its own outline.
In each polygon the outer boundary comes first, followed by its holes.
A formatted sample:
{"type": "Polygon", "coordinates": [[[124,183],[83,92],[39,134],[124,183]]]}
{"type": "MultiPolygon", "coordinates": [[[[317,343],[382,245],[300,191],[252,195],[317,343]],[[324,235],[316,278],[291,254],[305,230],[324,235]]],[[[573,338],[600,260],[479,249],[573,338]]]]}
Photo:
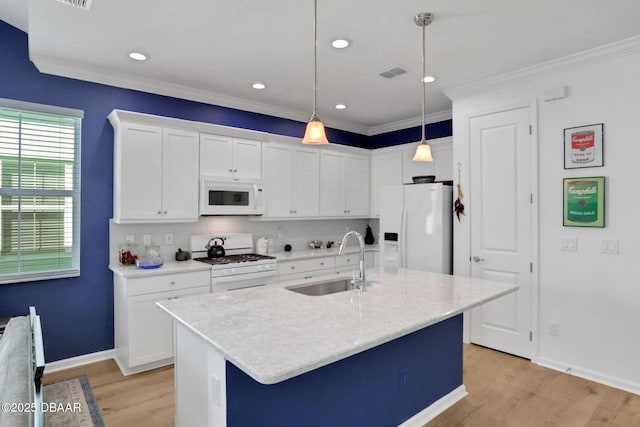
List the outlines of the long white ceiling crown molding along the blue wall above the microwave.
{"type": "MultiPolygon", "coordinates": [[[[156,95],[170,96],[189,101],[202,102],[226,108],[234,108],[252,113],[265,114],[289,120],[306,123],[309,120],[308,112],[275,107],[270,104],[248,101],[246,99],[223,95],[213,91],[193,89],[183,85],[176,85],[159,80],[143,79],[131,74],[104,70],[102,68],[89,67],[85,64],[61,61],[46,55],[30,54],[29,59],[38,71],[45,74],[84,80],[93,83],[115,86],[123,89],[132,89],[156,95]]],[[[361,135],[369,135],[368,126],[342,122],[332,119],[323,119],[325,126],[353,132],[361,135]]]]}

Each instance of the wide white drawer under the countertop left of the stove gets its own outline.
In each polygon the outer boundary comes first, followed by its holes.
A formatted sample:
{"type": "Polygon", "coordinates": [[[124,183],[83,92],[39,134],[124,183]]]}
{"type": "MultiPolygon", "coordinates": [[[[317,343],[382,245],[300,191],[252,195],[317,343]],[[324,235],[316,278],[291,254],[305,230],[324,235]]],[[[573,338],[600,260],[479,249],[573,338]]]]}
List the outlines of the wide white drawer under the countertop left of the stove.
{"type": "Polygon", "coordinates": [[[196,286],[208,286],[210,282],[209,270],[128,278],[127,295],[143,295],[196,286]]]}

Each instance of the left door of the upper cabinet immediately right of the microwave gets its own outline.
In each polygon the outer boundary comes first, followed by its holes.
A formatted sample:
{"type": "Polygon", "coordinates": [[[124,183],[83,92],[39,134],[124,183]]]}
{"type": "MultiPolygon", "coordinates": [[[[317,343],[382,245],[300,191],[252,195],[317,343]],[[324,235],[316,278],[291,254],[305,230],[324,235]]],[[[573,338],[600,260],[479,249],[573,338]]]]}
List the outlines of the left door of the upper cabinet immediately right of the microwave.
{"type": "MultiPolygon", "coordinates": [[[[293,157],[290,147],[265,144],[262,153],[266,189],[264,216],[288,217],[293,214],[293,157]]],[[[316,200],[316,205],[317,205],[316,200]]]]}

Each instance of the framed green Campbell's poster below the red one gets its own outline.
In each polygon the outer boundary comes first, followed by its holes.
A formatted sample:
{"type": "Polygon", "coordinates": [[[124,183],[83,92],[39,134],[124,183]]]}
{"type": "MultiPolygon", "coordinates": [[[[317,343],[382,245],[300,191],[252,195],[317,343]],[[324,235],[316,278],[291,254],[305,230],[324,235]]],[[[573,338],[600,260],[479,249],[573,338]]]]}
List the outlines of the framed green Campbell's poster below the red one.
{"type": "Polygon", "coordinates": [[[604,227],[604,176],[564,178],[562,225],[604,227]]]}

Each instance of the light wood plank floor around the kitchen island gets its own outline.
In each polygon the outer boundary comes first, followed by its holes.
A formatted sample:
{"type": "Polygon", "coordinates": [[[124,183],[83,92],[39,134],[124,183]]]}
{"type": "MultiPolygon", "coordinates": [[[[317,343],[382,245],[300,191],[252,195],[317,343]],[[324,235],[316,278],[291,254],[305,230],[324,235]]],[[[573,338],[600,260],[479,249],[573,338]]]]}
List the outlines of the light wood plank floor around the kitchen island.
{"type": "MultiPolygon", "coordinates": [[[[113,360],[46,374],[45,384],[85,374],[108,427],[174,424],[173,368],[122,376],[113,360]]],[[[638,427],[640,396],[464,346],[469,395],[428,427],[638,427]]],[[[356,426],[357,427],[357,426],[356,426]]]]}

